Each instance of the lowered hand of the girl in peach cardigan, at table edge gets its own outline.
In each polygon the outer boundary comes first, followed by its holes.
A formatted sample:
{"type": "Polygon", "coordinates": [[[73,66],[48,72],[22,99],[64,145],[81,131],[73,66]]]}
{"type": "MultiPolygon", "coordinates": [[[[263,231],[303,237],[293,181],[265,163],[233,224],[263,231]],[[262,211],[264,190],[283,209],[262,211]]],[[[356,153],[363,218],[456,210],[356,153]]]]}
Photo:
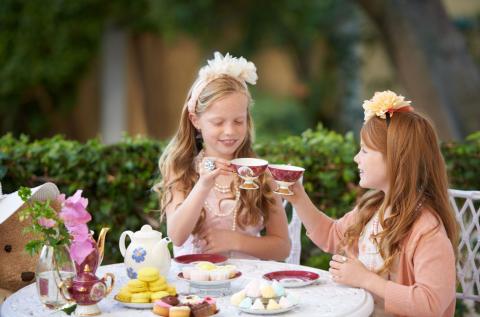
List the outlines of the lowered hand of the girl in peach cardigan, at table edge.
{"type": "Polygon", "coordinates": [[[352,254],[335,254],[330,261],[332,279],[336,283],[345,284],[353,287],[365,288],[365,281],[368,280],[374,272],[369,271],[360,260],[352,254]]]}

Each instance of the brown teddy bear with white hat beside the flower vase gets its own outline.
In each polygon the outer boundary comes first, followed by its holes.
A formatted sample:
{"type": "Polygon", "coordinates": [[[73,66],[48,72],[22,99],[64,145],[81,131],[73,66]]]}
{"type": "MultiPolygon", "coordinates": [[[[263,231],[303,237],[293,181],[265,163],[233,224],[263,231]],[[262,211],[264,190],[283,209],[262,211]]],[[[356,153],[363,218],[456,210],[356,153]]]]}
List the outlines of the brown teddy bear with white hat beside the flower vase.
{"type": "MultiPolygon", "coordinates": [[[[32,188],[30,200],[53,201],[58,195],[55,184],[45,183],[32,188]]],[[[25,244],[33,237],[23,233],[31,223],[19,220],[23,206],[18,192],[3,195],[0,183],[0,305],[8,295],[35,281],[38,255],[30,256],[25,251],[25,244]]]]}

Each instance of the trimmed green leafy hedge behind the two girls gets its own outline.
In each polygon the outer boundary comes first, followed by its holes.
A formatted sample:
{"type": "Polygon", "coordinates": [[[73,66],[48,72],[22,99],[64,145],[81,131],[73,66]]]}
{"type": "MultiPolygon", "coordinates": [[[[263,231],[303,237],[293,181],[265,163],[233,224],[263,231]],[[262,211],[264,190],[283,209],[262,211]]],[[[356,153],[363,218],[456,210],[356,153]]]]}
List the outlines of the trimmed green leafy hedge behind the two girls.
{"type": "MultiPolygon", "coordinates": [[[[319,126],[301,136],[256,145],[259,156],[275,163],[305,167],[304,184],[310,197],[329,215],[341,217],[360,193],[353,156],[358,142],[352,134],[340,135],[319,126]]],[[[56,183],[68,195],[83,189],[93,215],[92,229],[112,228],[107,236],[105,263],[122,261],[118,238],[124,230],[158,224],[158,200],[150,190],[158,181],[157,161],[165,142],[125,138],[115,145],[98,140],[85,144],[57,136],[31,141],[11,135],[0,138],[0,180],[4,192],[19,186],[56,183]]],[[[480,189],[480,132],[461,143],[445,143],[451,187],[480,189]]],[[[302,236],[302,263],[327,268],[329,257],[302,236]]]]}

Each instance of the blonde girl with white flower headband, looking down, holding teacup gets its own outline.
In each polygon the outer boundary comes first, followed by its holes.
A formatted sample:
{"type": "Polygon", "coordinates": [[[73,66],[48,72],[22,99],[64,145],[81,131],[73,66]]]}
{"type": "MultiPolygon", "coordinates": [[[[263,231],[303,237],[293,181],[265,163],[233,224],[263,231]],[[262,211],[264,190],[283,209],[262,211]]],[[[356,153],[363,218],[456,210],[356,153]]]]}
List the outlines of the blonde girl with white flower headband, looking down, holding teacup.
{"type": "Polygon", "coordinates": [[[188,93],[159,161],[161,208],[176,256],[284,260],[290,252],[285,211],[270,179],[261,176],[259,190],[241,190],[230,166],[234,158],[255,156],[247,83],[256,80],[253,63],[217,52],[188,93]]]}

